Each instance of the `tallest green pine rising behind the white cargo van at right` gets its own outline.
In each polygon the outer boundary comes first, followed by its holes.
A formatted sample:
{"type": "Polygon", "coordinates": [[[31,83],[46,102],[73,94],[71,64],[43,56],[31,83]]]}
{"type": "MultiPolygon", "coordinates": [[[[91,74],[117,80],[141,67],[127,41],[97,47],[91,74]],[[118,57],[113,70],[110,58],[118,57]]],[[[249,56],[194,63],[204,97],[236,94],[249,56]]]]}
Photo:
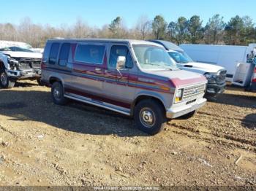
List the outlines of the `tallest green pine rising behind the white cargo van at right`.
{"type": "Polygon", "coordinates": [[[206,44],[218,44],[222,40],[224,28],[223,17],[219,14],[211,17],[206,24],[204,32],[206,44]]]}

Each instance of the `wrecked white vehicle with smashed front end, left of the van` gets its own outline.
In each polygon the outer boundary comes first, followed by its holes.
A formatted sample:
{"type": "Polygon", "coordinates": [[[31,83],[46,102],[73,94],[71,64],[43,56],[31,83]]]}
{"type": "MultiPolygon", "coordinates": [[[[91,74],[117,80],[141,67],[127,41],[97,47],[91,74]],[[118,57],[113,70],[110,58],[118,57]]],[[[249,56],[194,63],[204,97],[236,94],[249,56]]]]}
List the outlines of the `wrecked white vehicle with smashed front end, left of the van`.
{"type": "Polygon", "coordinates": [[[21,79],[36,79],[41,85],[42,53],[24,47],[0,47],[0,87],[12,88],[21,79]]]}

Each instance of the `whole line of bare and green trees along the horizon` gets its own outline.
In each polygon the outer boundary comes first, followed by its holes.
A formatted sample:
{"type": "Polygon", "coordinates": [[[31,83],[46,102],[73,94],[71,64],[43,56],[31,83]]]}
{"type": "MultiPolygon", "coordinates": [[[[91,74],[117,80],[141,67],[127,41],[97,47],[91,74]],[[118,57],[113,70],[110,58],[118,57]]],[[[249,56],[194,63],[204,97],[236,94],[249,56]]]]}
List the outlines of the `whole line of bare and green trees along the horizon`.
{"type": "Polygon", "coordinates": [[[91,27],[79,18],[72,26],[63,24],[59,27],[34,24],[29,17],[18,25],[0,23],[0,40],[27,42],[33,47],[43,47],[47,39],[56,37],[162,39],[176,44],[247,45],[256,42],[256,26],[249,16],[236,15],[225,23],[218,14],[211,17],[205,26],[198,15],[189,19],[178,17],[178,20],[170,23],[161,15],[154,17],[154,20],[141,16],[132,28],[127,28],[121,17],[116,17],[101,28],[91,27]]]}

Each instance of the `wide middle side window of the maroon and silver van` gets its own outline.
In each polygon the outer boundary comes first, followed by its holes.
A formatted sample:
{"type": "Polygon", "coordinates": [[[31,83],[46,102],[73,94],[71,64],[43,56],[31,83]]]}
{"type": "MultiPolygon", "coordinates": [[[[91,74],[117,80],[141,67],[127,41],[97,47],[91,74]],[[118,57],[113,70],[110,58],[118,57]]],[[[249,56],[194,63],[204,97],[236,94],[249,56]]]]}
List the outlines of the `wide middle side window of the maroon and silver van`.
{"type": "Polygon", "coordinates": [[[75,61],[83,63],[102,64],[105,46],[78,44],[75,53],[75,61]]]}

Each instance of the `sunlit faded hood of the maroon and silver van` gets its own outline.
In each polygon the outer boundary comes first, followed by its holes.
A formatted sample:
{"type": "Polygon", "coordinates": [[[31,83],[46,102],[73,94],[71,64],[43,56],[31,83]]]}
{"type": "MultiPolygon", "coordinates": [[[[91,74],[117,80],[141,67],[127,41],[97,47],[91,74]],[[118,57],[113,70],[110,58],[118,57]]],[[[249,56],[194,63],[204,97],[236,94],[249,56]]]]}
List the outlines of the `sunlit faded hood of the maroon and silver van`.
{"type": "Polygon", "coordinates": [[[173,71],[146,71],[146,73],[157,77],[166,77],[173,82],[175,87],[207,83],[207,79],[203,75],[179,69],[173,71]]]}

